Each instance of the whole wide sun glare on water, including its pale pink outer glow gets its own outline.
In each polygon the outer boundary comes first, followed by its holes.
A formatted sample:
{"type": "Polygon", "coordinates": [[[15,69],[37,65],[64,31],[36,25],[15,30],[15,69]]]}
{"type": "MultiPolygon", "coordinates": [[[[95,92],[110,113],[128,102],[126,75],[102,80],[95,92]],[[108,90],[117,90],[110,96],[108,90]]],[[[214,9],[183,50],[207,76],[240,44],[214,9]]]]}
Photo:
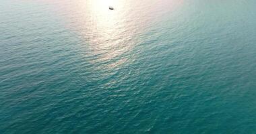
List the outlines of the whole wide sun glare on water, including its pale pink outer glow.
{"type": "MultiPolygon", "coordinates": [[[[158,9],[172,9],[174,1],[160,5],[157,0],[148,4],[147,0],[77,0],[70,2],[71,28],[84,40],[88,53],[98,56],[91,62],[106,62],[119,59],[110,64],[117,66],[125,62],[133,50],[140,33],[152,23],[158,22],[162,12],[158,9]],[[141,2],[143,1],[143,2],[141,2]],[[141,3],[145,3],[141,5],[141,3]],[[113,7],[114,10],[110,10],[113,7]]],[[[162,10],[161,10],[162,11],[162,10]]],[[[88,54],[87,54],[88,55],[88,54]]]]}

